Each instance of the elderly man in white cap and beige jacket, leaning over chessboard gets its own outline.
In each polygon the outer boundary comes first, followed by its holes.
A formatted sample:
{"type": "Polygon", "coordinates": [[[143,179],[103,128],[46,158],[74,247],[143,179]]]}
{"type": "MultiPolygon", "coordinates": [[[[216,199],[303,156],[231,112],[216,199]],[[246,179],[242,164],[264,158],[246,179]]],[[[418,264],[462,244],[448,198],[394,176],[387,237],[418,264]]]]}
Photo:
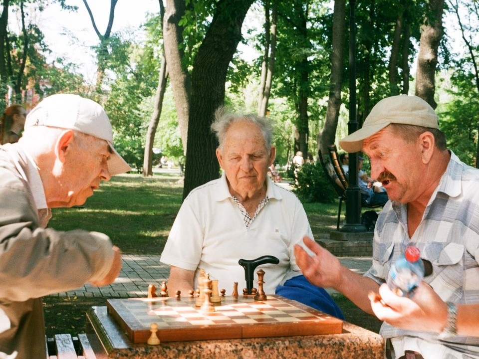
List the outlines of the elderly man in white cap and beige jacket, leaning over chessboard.
{"type": "Polygon", "coordinates": [[[77,95],[45,98],[23,136],[0,147],[0,355],[45,358],[41,296],[112,283],[121,252],[97,232],[46,228],[50,208],[80,205],[130,170],[103,108],[77,95]]]}

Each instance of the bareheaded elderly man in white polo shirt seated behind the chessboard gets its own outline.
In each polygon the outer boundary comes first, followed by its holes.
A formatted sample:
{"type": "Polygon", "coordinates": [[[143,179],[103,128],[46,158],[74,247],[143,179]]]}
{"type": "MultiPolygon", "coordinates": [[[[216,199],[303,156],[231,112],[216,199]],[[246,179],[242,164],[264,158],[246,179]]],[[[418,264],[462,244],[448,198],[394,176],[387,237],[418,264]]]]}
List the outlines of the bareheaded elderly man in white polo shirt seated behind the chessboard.
{"type": "Polygon", "coordinates": [[[342,317],[329,295],[311,286],[296,265],[294,244],[312,233],[298,198],[267,176],[276,154],[269,120],[217,113],[211,127],[224,174],[192,190],[178,212],[161,255],[171,266],[168,289],[188,293],[204,269],[230,294],[234,282],[240,288],[244,283],[240,259],[272,255],[279,264],[261,266],[265,293],[276,290],[342,317]]]}

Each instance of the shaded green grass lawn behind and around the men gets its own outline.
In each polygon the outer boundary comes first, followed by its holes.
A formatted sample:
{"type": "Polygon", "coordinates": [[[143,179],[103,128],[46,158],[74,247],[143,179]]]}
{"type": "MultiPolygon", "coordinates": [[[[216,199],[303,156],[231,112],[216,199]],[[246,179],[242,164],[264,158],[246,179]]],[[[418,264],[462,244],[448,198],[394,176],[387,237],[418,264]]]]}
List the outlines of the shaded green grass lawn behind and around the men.
{"type": "MultiPolygon", "coordinates": [[[[49,227],[106,233],[126,254],[161,254],[180,208],[182,191],[180,175],[116,176],[102,183],[83,207],[54,209],[49,227]]],[[[315,237],[336,228],[337,203],[303,205],[315,237]]],[[[334,300],[348,322],[379,331],[380,321],[362,312],[346,297],[335,294],[334,300]]],[[[105,298],[44,297],[47,337],[82,333],[85,312],[105,302],[105,298]]]]}

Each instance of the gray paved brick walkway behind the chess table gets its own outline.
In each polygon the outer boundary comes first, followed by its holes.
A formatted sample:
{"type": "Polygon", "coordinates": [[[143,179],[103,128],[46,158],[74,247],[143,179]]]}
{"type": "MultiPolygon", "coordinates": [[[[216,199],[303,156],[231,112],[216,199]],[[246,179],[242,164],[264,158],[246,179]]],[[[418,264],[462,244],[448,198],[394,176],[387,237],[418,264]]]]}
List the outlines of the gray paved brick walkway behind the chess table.
{"type": "MultiPolygon", "coordinates": [[[[371,257],[339,257],[343,265],[354,272],[363,274],[371,266],[371,257]]],[[[154,284],[158,289],[162,281],[168,280],[169,266],[160,263],[159,255],[123,255],[123,266],[114,283],[104,287],[85,286],[58,293],[57,296],[83,297],[146,297],[148,286],[154,284]]]]}

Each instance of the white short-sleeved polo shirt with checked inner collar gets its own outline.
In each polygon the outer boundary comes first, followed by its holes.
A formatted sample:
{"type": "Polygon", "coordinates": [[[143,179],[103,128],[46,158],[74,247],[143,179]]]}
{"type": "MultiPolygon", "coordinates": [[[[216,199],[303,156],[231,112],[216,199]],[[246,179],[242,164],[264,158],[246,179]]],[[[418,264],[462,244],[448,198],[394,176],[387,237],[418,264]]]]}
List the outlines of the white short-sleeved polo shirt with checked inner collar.
{"type": "Polygon", "coordinates": [[[279,264],[263,264],[254,270],[253,287],[257,288],[256,271],[262,268],[267,294],[300,275],[293,250],[294,244],[302,245],[304,235],[313,237],[306,212],[295,194],[269,178],[266,180],[269,201],[249,228],[232,198],[225,175],[192,190],[173,223],[160,261],[196,271],[195,289],[200,269],[204,269],[211,279],[218,279],[218,287],[226,289],[227,295],[232,293],[234,282],[239,283],[240,293],[246,288],[240,259],[264,255],[279,259],[279,264]]]}

